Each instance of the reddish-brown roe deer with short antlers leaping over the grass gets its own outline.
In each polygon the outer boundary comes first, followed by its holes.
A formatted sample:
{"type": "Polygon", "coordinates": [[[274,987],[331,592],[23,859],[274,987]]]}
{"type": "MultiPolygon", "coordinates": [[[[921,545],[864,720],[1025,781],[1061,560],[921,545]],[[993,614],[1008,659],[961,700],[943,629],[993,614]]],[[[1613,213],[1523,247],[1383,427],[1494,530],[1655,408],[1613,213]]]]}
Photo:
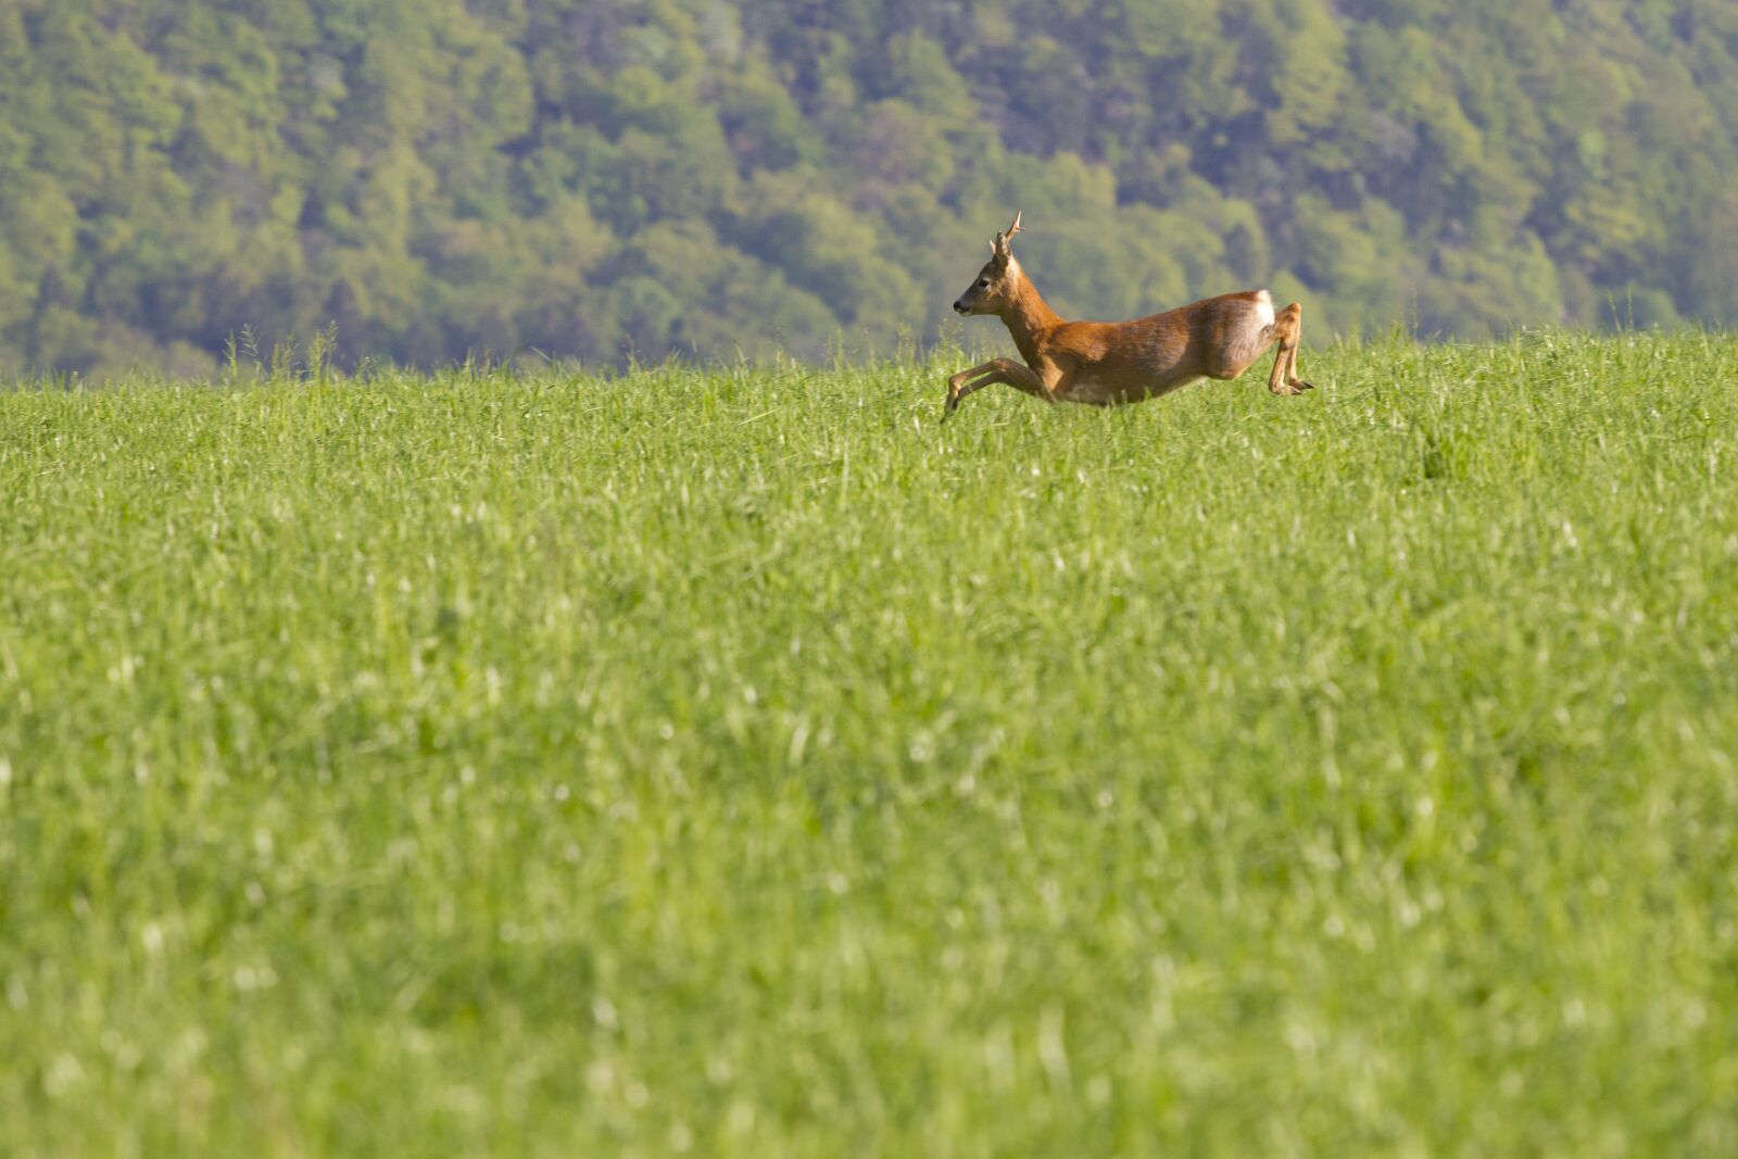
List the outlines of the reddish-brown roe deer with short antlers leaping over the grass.
{"type": "Polygon", "coordinates": [[[996,382],[1051,403],[1138,403],[1196,379],[1236,379],[1274,342],[1279,353],[1267,389],[1274,394],[1314,389],[1297,374],[1304,337],[1304,308],[1297,302],[1276,315],[1267,290],[1244,290],[1135,321],[1064,321],[1013,259],[1017,233],[1018,214],[991,242],[989,262],[954,309],[1001,318],[1025,365],[992,358],[951,375],[944,422],[959,400],[996,382]]]}

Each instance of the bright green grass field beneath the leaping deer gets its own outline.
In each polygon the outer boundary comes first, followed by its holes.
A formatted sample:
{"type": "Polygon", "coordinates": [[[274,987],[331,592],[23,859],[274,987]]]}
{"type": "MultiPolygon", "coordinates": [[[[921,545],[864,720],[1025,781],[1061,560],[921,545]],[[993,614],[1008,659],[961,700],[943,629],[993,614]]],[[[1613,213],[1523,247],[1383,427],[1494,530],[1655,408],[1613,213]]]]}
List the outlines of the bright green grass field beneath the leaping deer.
{"type": "Polygon", "coordinates": [[[958,365],[0,393],[0,1154],[1738,1152],[1733,341],[958,365]]]}

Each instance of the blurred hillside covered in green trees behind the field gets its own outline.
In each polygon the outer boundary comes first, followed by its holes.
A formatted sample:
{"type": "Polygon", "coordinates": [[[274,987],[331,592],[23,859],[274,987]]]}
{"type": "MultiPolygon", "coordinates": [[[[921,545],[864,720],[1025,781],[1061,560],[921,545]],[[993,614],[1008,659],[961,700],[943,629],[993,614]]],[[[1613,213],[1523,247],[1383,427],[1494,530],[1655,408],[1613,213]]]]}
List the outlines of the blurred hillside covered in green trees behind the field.
{"type": "Polygon", "coordinates": [[[0,0],[0,367],[1729,323],[1731,0],[0,0]]]}

